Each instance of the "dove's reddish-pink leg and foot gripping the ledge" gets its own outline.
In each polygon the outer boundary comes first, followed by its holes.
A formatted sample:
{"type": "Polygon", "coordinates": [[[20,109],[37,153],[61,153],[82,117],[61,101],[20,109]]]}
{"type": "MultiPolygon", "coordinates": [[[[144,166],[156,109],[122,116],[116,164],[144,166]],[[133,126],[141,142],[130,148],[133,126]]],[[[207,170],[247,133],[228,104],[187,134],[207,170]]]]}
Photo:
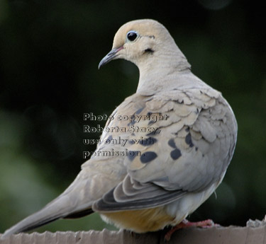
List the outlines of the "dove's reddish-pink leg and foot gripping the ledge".
{"type": "Polygon", "coordinates": [[[172,234],[179,230],[180,228],[189,228],[189,227],[201,227],[201,228],[210,228],[214,226],[220,226],[217,223],[214,223],[211,219],[206,219],[204,221],[190,222],[187,219],[184,219],[182,222],[178,223],[176,226],[173,226],[170,231],[167,231],[165,234],[165,240],[169,241],[172,234]]]}

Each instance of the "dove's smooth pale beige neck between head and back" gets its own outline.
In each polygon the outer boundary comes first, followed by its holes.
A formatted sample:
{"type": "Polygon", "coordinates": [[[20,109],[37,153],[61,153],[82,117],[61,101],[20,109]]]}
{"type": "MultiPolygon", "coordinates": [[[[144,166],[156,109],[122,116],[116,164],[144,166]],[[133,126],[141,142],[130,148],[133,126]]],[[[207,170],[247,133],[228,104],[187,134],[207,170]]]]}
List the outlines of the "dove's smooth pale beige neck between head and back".
{"type": "Polygon", "coordinates": [[[179,75],[189,71],[190,64],[179,50],[156,52],[154,57],[138,64],[140,79],[137,93],[152,95],[165,87],[177,86],[179,75]]]}

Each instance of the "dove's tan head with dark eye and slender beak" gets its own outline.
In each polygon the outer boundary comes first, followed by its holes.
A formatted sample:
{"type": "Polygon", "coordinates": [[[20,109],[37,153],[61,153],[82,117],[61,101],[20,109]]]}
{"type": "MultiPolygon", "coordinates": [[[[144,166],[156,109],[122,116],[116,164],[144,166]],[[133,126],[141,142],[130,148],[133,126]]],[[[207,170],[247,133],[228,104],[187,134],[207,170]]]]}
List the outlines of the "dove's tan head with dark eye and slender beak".
{"type": "Polygon", "coordinates": [[[162,24],[150,19],[131,21],[119,28],[112,50],[101,59],[99,68],[113,59],[126,59],[138,66],[171,47],[176,45],[162,24]]]}

